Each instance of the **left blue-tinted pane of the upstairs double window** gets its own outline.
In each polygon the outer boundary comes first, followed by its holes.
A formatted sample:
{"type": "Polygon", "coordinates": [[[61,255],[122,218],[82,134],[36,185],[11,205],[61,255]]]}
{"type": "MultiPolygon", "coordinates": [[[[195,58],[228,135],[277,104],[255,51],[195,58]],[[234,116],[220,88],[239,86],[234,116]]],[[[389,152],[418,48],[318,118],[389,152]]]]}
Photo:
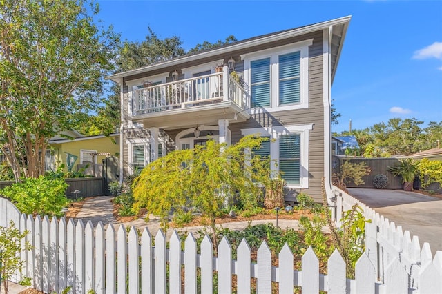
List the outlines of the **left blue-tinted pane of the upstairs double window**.
{"type": "Polygon", "coordinates": [[[270,106],[270,58],[251,61],[251,107],[270,106]]]}

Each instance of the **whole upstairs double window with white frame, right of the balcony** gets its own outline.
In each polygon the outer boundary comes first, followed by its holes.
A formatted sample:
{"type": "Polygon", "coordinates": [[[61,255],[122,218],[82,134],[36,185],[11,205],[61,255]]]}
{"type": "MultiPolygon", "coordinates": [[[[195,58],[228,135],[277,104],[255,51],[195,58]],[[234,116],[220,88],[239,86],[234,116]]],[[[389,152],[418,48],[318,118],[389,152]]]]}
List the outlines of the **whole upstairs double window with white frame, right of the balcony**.
{"type": "Polygon", "coordinates": [[[252,112],[309,107],[309,46],[313,39],[242,55],[252,112]]]}

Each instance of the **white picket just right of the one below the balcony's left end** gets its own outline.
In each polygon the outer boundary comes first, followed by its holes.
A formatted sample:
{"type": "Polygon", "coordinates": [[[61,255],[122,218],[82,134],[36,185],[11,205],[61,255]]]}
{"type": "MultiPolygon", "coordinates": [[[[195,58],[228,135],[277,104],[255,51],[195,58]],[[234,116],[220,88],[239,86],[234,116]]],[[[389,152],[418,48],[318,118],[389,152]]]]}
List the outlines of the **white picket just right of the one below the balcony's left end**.
{"type": "Polygon", "coordinates": [[[153,263],[152,263],[152,235],[149,233],[147,228],[141,235],[141,293],[149,294],[154,293],[153,291],[153,263]]]}

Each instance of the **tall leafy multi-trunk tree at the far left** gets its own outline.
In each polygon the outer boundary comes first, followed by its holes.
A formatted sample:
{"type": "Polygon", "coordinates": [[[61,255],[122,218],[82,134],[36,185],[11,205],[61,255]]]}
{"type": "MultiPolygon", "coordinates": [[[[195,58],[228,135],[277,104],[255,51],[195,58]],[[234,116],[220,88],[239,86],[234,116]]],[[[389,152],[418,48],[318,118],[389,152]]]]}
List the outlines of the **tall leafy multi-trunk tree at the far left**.
{"type": "Polygon", "coordinates": [[[45,170],[50,137],[97,108],[118,36],[93,2],[0,1],[0,149],[19,182],[45,170]]]}

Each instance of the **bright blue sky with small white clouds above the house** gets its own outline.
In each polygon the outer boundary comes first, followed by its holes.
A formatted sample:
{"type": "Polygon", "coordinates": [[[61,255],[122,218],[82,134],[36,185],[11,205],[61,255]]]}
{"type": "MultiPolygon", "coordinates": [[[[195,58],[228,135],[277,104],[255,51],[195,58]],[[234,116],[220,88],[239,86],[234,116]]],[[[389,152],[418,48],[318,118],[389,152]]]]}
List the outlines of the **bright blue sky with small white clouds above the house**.
{"type": "Polygon", "coordinates": [[[179,36],[185,49],[352,15],[332,86],[333,130],[393,117],[442,121],[442,1],[99,1],[122,39],[179,36]]]}

